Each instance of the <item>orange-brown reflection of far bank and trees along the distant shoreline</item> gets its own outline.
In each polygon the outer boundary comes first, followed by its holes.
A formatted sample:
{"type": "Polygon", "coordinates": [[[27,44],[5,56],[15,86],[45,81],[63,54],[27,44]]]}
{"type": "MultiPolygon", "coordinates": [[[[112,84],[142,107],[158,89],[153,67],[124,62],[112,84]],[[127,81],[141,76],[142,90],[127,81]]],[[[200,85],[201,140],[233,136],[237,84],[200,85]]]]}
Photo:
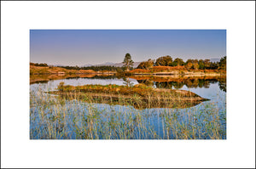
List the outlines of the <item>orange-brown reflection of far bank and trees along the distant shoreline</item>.
{"type": "Polygon", "coordinates": [[[34,83],[47,83],[51,80],[60,80],[60,79],[122,79],[123,85],[133,86],[134,82],[131,82],[131,79],[137,80],[138,83],[143,83],[147,86],[157,87],[157,88],[173,88],[181,89],[184,86],[188,88],[209,88],[211,84],[218,83],[220,90],[226,92],[226,77],[177,77],[177,76],[108,76],[108,75],[66,75],[66,76],[30,76],[30,84],[34,83]]]}

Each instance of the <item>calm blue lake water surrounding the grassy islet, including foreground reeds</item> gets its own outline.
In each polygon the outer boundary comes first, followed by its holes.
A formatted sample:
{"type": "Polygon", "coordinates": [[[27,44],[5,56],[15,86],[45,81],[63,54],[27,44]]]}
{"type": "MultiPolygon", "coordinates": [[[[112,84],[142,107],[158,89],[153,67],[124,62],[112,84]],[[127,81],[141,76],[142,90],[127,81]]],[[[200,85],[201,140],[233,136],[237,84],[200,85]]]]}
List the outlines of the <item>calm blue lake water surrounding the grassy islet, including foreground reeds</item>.
{"type": "MultiPolygon", "coordinates": [[[[31,139],[225,139],[225,78],[154,81],[143,77],[69,77],[30,85],[31,139]],[[131,85],[188,90],[210,99],[185,109],[137,110],[131,105],[63,100],[44,92],[65,85],[131,85]]],[[[171,80],[170,80],[171,79],[171,80]]]]}

